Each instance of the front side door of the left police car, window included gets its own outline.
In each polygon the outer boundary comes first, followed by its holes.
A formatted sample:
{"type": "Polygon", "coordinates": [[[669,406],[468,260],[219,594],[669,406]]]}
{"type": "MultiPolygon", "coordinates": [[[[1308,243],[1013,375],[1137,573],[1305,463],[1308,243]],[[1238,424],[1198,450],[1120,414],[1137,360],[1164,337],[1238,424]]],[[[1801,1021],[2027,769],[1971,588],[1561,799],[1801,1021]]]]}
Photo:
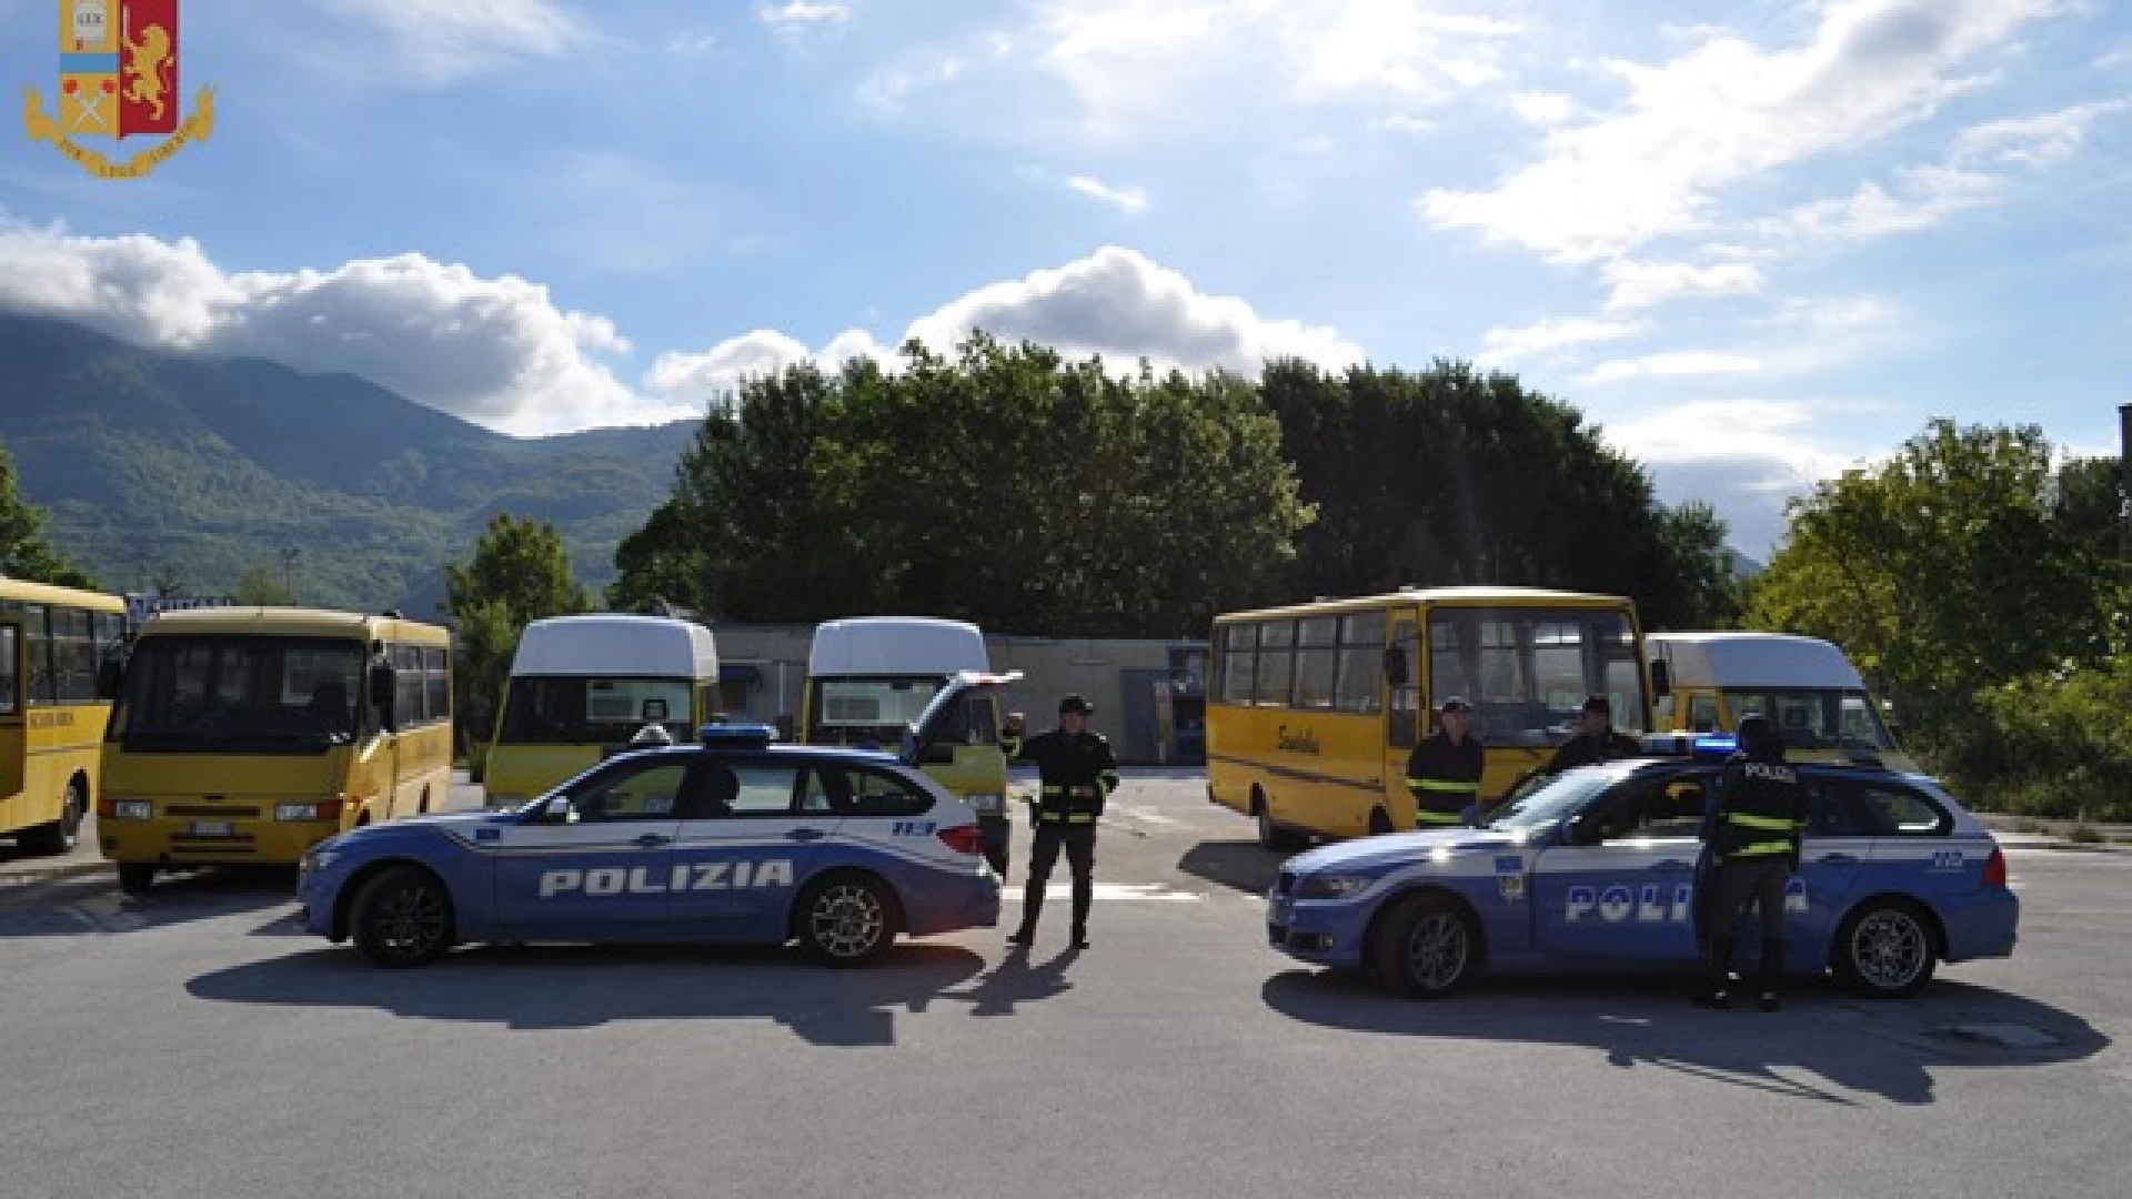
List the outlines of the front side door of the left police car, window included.
{"type": "Polygon", "coordinates": [[[701,755],[618,757],[495,838],[497,917],[559,941],[657,934],[701,755]]]}

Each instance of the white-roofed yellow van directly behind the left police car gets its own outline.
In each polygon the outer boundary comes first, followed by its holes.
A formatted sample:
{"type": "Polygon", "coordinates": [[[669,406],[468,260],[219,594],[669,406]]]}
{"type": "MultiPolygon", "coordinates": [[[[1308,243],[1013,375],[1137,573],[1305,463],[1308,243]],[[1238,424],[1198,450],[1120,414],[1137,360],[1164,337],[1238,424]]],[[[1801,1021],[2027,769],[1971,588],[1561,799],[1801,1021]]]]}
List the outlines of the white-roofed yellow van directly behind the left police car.
{"type": "Polygon", "coordinates": [[[691,742],[718,710],[718,644],[695,621],[593,612],[518,636],[484,789],[490,806],[546,794],[629,747],[644,725],[691,742]]]}

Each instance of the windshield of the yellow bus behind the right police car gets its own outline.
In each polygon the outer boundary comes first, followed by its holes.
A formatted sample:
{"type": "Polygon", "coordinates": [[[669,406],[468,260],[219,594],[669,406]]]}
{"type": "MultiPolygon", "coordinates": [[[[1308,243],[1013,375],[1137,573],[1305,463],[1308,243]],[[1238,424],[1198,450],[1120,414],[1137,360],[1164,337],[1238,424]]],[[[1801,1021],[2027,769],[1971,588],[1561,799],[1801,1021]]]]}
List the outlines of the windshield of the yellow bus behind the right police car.
{"type": "Polygon", "coordinates": [[[1586,696],[1608,696],[1614,728],[1644,730],[1644,670],[1625,612],[1582,608],[1433,608],[1428,683],[1460,696],[1488,745],[1561,745],[1586,696]]]}

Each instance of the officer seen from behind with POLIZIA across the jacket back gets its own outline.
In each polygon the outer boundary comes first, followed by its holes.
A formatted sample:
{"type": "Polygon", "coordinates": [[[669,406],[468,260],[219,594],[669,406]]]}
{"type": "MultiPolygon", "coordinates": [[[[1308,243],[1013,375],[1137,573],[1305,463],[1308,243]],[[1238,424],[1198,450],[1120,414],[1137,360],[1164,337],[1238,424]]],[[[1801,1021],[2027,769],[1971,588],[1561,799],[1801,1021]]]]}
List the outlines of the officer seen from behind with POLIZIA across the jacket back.
{"type": "Polygon", "coordinates": [[[1776,1011],[1776,979],[1784,971],[1784,883],[1799,868],[1806,787],[1784,762],[1784,738],[1765,717],[1740,721],[1740,749],[1703,817],[1710,902],[1703,905],[1708,986],[1703,1007],[1731,1007],[1725,992],[1733,962],[1733,928],[1746,907],[1761,905],[1761,1009],[1776,1011]]]}

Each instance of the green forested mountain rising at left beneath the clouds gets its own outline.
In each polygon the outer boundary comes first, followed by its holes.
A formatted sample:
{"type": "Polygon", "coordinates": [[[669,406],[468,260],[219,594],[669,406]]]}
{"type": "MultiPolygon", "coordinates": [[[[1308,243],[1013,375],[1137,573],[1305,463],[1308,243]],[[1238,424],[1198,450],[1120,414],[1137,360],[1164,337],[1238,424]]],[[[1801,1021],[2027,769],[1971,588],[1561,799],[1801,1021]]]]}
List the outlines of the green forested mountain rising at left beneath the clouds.
{"type": "Polygon", "coordinates": [[[49,535],[100,585],[222,593],[296,548],[307,604],[433,617],[497,512],[563,531],[605,587],[695,422],[518,439],[345,373],[128,346],[0,314],[0,437],[49,535]]]}

